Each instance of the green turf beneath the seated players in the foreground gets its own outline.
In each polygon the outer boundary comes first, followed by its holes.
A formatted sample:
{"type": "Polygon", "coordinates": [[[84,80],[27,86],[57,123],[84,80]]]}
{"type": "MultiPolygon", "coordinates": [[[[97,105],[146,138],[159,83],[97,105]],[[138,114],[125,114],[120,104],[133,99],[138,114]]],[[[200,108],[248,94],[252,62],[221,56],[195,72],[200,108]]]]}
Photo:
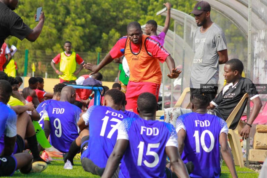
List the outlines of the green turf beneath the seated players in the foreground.
{"type": "MultiPolygon", "coordinates": [[[[53,160],[51,164],[48,165],[47,169],[41,173],[31,173],[31,174],[21,174],[16,171],[12,177],[37,177],[37,178],[63,178],[63,177],[99,177],[88,172],[85,172],[82,169],[81,162],[76,160],[74,161],[74,166],[72,170],[63,169],[64,163],[63,160],[53,160]]],[[[257,178],[259,175],[255,171],[252,171],[248,168],[240,168],[236,166],[237,175],[239,178],[257,178]]],[[[223,163],[222,165],[222,178],[230,178],[231,174],[228,167],[223,163]]]]}

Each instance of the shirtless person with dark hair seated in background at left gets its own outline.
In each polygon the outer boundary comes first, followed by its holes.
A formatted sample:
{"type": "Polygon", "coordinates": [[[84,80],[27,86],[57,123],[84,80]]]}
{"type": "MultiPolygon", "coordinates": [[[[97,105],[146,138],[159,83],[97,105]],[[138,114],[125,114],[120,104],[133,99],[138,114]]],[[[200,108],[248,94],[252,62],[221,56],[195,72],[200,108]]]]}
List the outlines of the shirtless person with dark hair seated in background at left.
{"type": "Polygon", "coordinates": [[[38,80],[35,77],[31,77],[29,79],[29,87],[26,87],[22,90],[24,99],[26,99],[28,102],[32,101],[35,108],[40,104],[35,92],[37,86],[38,86],[38,80]]]}

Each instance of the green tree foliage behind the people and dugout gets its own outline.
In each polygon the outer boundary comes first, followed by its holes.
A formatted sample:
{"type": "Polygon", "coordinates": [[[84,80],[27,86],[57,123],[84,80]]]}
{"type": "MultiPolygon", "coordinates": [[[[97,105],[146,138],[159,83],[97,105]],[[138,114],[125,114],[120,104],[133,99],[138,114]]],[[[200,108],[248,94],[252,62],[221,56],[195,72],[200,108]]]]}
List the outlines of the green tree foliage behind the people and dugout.
{"type": "MultiPolygon", "coordinates": [[[[20,41],[16,37],[10,36],[7,43],[18,48],[14,59],[18,62],[20,74],[23,74],[24,71],[24,51],[29,49],[28,71],[30,71],[31,62],[35,62],[35,65],[42,69],[39,75],[44,77],[44,72],[48,71],[49,77],[57,77],[51,70],[50,61],[63,50],[64,41],[71,41],[74,51],[83,52],[82,57],[85,61],[96,61],[97,52],[102,53],[101,57],[104,57],[117,40],[126,35],[126,26],[129,22],[138,21],[143,25],[147,20],[154,19],[158,25],[164,26],[165,16],[157,16],[156,12],[165,7],[163,5],[165,2],[163,0],[23,0],[19,2],[15,12],[21,16],[24,23],[34,28],[37,24],[34,22],[36,8],[43,7],[44,28],[35,42],[29,42],[26,39],[20,41]]],[[[189,13],[197,1],[170,0],[169,2],[172,4],[172,8],[189,13]]],[[[240,43],[245,44],[244,36],[227,19],[221,20],[221,18],[216,16],[214,19],[212,17],[212,20],[216,23],[219,22],[218,24],[225,31],[228,46],[236,49],[230,54],[246,54],[245,47],[239,45],[240,43]]],[[[174,20],[171,20],[171,30],[173,24],[174,20]]],[[[183,37],[183,26],[177,25],[176,33],[183,37]]],[[[114,68],[103,72],[115,73],[114,76],[116,76],[117,68],[118,66],[114,65],[114,68]]],[[[82,73],[86,72],[88,71],[82,70],[82,73]]]]}

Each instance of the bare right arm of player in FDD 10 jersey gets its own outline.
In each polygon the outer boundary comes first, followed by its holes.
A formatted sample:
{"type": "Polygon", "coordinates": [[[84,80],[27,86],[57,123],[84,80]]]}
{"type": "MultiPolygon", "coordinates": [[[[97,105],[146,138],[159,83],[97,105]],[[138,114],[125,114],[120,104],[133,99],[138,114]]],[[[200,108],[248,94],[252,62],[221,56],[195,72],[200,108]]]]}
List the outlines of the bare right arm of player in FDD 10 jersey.
{"type": "Polygon", "coordinates": [[[235,177],[237,177],[236,168],[235,168],[235,165],[234,165],[234,162],[233,162],[231,149],[228,146],[226,133],[221,133],[220,134],[219,142],[220,142],[220,145],[221,145],[222,158],[224,159],[227,167],[229,168],[232,177],[235,178],[235,177]]]}

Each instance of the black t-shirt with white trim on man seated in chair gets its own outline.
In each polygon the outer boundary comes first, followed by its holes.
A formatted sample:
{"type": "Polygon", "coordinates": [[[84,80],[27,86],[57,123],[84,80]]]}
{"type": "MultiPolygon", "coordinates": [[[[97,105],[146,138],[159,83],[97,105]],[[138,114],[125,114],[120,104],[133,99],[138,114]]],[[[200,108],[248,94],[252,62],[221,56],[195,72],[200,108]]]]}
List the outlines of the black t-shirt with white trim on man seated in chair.
{"type": "MultiPolygon", "coordinates": [[[[211,103],[215,106],[214,112],[216,115],[226,121],[245,93],[249,94],[250,100],[258,96],[258,92],[253,88],[255,88],[255,86],[252,81],[244,77],[242,77],[234,86],[233,83],[226,85],[220,94],[211,101],[211,103]]],[[[247,99],[241,106],[229,128],[236,128],[246,104],[247,99]]]]}

